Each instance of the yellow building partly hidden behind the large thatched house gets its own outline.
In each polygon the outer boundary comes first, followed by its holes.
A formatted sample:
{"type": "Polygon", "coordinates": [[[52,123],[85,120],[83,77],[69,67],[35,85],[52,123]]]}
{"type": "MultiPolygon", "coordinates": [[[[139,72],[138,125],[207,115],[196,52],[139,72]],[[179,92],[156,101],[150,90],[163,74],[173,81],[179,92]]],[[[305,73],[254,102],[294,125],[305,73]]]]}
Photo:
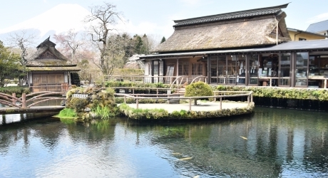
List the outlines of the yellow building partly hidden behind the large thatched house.
{"type": "Polygon", "coordinates": [[[321,40],[328,37],[319,33],[301,31],[294,28],[287,28],[287,30],[292,41],[321,40]]]}

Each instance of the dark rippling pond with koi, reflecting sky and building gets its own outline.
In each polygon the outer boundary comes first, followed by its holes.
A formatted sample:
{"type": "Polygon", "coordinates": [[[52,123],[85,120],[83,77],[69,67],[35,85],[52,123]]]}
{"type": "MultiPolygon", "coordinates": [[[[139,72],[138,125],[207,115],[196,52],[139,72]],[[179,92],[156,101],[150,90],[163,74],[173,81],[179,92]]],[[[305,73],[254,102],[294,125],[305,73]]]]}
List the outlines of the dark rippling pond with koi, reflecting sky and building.
{"type": "Polygon", "coordinates": [[[0,125],[0,177],[327,177],[328,113],[0,125]]]}

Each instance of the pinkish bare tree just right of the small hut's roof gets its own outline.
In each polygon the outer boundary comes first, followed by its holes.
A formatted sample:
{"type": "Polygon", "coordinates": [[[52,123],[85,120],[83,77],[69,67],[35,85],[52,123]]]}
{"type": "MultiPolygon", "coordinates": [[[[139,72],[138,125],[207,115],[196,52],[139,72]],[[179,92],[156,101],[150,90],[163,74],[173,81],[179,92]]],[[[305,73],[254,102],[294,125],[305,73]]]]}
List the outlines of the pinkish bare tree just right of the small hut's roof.
{"type": "Polygon", "coordinates": [[[76,52],[78,51],[78,48],[81,48],[81,46],[85,43],[83,38],[78,38],[78,32],[74,29],[70,29],[66,33],[53,35],[53,38],[55,38],[56,43],[61,45],[61,52],[70,56],[71,61],[78,63],[78,59],[76,59],[76,52]]]}

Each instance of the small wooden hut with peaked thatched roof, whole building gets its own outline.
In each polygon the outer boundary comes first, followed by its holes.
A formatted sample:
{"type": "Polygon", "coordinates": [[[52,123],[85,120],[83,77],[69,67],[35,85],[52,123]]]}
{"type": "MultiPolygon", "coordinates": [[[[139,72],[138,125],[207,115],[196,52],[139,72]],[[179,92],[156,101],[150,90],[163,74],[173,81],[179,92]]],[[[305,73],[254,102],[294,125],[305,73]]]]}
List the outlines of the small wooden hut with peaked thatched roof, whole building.
{"type": "Polygon", "coordinates": [[[70,85],[79,84],[76,72],[80,69],[57,51],[56,44],[49,38],[40,43],[36,53],[27,60],[27,83],[33,92],[66,91],[70,85]]]}

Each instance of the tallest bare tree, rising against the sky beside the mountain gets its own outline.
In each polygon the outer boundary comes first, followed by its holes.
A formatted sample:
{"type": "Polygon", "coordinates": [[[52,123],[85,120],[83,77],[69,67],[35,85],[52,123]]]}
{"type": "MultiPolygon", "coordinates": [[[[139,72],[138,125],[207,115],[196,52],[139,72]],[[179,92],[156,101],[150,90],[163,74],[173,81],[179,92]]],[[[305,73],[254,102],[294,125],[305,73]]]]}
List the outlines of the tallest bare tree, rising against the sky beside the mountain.
{"type": "Polygon", "coordinates": [[[116,11],[116,6],[110,3],[104,3],[102,6],[92,6],[91,15],[86,16],[85,22],[90,24],[89,33],[91,41],[96,43],[100,51],[100,61],[98,67],[103,75],[108,75],[108,63],[111,59],[111,51],[108,51],[108,36],[111,31],[116,31],[116,23],[123,21],[121,13],[116,11]]]}

